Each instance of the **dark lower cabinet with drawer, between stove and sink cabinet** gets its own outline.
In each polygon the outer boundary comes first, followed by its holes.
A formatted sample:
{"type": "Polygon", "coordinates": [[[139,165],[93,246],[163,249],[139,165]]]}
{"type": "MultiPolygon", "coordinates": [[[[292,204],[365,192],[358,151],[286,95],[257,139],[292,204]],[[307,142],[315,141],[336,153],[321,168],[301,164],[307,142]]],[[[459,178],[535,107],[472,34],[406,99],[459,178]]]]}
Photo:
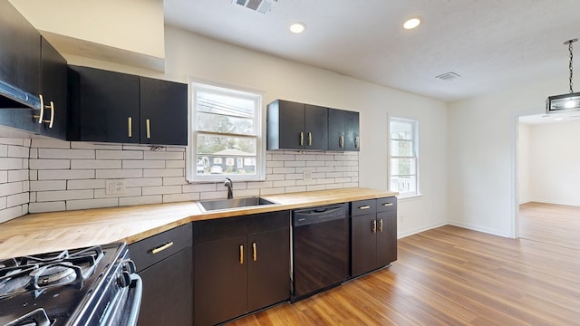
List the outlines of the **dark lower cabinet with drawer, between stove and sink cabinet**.
{"type": "Polygon", "coordinates": [[[129,245],[143,280],[138,326],[193,325],[191,224],[129,245]]]}

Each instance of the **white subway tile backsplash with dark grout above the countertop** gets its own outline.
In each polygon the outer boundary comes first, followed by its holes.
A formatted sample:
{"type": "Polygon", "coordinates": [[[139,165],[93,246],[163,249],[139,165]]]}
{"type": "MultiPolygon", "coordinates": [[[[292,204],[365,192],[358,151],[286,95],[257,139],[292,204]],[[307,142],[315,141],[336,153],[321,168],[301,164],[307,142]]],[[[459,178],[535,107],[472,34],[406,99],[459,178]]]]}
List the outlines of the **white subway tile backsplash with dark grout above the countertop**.
{"type": "MultiPolygon", "coordinates": [[[[234,195],[265,196],[358,187],[358,158],[356,152],[267,152],[266,180],[234,182],[234,195]],[[304,180],[304,172],[309,172],[310,179],[304,180]]],[[[189,184],[185,168],[184,147],[0,139],[0,219],[22,216],[28,211],[227,196],[221,181],[189,184]],[[105,180],[118,178],[125,182],[124,193],[106,195],[105,180]]]]}

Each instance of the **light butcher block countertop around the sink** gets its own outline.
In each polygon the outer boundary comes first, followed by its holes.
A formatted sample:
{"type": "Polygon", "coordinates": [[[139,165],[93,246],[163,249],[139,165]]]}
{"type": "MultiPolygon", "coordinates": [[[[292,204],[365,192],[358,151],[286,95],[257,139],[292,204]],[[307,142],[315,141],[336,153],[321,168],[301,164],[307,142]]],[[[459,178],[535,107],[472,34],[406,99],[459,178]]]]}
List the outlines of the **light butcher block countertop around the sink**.
{"type": "Polygon", "coordinates": [[[212,212],[202,212],[192,201],[28,214],[0,224],[0,260],[120,241],[131,244],[193,221],[397,195],[357,187],[262,196],[277,205],[212,212]]]}

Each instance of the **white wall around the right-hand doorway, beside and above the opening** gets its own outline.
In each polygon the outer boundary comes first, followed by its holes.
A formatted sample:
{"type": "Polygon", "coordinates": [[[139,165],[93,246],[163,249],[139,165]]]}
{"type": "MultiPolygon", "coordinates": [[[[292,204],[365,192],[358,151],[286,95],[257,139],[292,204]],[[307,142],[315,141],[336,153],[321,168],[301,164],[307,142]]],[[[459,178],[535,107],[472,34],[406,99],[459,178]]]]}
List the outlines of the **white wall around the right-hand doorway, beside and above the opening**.
{"type": "Polygon", "coordinates": [[[517,116],[544,113],[566,81],[541,81],[449,104],[449,220],[515,236],[517,116]]]}

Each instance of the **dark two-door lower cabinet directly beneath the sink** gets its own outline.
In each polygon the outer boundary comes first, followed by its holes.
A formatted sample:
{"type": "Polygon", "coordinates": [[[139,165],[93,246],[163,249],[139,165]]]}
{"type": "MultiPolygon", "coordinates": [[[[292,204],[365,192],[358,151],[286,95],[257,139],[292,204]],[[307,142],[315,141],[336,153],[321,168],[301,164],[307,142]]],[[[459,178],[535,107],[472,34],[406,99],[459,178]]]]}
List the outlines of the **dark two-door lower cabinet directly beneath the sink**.
{"type": "Polygon", "coordinates": [[[214,325],[290,296],[290,213],[194,224],[195,325],[214,325]]]}

